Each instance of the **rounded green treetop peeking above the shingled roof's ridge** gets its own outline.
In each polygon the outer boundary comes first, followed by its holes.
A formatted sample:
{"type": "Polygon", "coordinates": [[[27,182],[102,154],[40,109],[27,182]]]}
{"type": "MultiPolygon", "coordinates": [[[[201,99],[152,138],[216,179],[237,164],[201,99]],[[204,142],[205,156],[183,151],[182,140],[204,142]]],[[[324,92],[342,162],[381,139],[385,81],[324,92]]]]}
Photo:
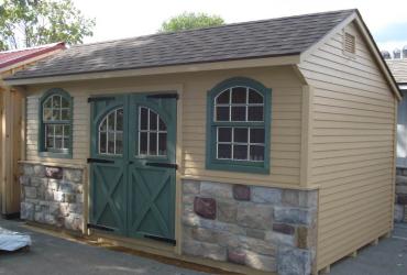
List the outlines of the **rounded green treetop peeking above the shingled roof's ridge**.
{"type": "Polygon", "coordinates": [[[201,12],[184,12],[177,16],[170,18],[168,21],[163,22],[158,32],[176,32],[223,24],[224,20],[219,15],[209,15],[201,12]]]}

